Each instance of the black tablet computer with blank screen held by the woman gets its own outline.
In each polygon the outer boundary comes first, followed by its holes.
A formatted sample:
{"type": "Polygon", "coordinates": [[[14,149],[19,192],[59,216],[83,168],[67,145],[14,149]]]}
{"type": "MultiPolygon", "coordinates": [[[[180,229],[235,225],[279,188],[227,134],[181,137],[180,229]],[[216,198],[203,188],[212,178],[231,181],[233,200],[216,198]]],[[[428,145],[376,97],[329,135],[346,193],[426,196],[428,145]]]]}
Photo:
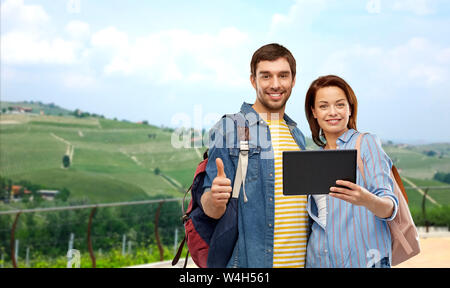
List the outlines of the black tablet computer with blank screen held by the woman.
{"type": "Polygon", "coordinates": [[[356,183],[356,150],[283,152],[283,194],[328,194],[337,180],[356,183]]]}

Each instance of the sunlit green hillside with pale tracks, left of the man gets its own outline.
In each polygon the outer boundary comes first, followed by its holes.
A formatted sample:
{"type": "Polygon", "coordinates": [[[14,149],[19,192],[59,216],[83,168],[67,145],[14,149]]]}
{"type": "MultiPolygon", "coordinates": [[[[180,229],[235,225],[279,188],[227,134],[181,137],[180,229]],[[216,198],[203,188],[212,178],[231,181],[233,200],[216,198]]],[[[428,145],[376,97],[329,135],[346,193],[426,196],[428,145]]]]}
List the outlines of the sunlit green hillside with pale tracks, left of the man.
{"type": "Polygon", "coordinates": [[[4,114],[0,116],[0,175],[48,188],[67,187],[71,200],[89,203],[159,194],[180,197],[181,187],[192,182],[200,151],[175,149],[170,141],[170,132],[144,124],[4,114]],[[71,166],[65,169],[62,158],[72,149],[71,166]],[[165,177],[155,175],[156,168],[165,177]]]}

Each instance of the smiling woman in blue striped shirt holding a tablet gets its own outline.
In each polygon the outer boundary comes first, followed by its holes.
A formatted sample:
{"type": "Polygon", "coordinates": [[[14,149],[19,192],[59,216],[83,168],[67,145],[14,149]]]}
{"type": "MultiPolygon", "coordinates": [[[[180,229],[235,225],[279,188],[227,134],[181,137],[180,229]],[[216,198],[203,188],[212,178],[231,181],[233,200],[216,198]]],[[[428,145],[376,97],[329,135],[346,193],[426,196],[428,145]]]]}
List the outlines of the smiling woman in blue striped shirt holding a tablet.
{"type": "MultiPolygon", "coordinates": [[[[305,112],[314,142],[321,149],[355,149],[357,100],[340,77],[315,80],[307,94],[305,112]]],[[[357,183],[338,180],[328,195],[308,197],[314,220],[306,267],[390,267],[391,221],[398,207],[389,177],[392,161],[379,139],[366,134],[361,157],[367,185],[357,169],[357,183]]]]}

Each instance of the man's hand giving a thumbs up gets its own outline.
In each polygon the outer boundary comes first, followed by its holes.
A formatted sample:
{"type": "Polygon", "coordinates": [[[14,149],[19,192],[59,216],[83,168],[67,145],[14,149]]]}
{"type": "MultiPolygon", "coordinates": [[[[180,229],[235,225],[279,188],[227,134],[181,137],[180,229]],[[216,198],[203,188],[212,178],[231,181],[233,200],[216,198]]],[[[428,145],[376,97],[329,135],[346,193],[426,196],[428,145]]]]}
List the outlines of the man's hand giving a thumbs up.
{"type": "Polygon", "coordinates": [[[203,193],[200,201],[203,211],[211,218],[219,219],[227,209],[231,197],[231,180],[227,178],[222,159],[216,159],[217,176],[214,178],[211,190],[203,193]]]}

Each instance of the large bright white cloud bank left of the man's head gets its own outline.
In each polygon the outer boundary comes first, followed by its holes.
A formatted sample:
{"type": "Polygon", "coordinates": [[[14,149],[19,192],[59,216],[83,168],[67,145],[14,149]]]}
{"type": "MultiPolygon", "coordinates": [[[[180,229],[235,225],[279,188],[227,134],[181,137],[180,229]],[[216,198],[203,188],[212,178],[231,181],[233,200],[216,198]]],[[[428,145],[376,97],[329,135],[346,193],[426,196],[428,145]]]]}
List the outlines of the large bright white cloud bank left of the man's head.
{"type": "Polygon", "coordinates": [[[114,26],[92,31],[79,20],[55,28],[43,7],[23,0],[7,0],[1,7],[2,22],[7,24],[1,35],[2,62],[71,66],[74,73],[61,78],[68,87],[93,82],[78,76],[82,73],[76,73],[77,69],[144,77],[154,83],[177,80],[239,86],[248,82],[247,67],[237,63],[248,56],[249,37],[235,27],[217,33],[171,29],[130,37],[114,26]]]}

